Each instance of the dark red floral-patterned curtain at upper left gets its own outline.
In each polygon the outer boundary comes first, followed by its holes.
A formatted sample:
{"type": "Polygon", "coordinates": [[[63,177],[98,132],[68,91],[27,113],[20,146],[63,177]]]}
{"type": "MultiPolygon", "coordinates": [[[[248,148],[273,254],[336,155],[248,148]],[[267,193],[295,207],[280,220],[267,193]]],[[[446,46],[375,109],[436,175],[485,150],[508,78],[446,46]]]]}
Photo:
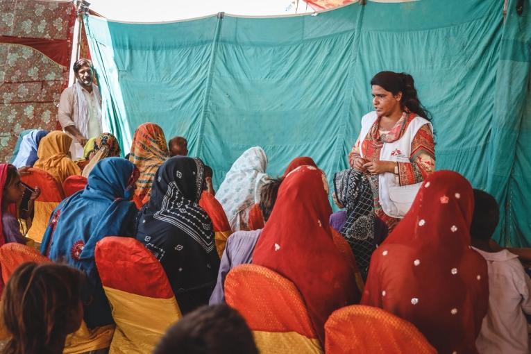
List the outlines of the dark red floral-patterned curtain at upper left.
{"type": "Polygon", "coordinates": [[[0,1],[0,162],[22,130],[56,128],[75,21],[71,1],[0,1]]]}

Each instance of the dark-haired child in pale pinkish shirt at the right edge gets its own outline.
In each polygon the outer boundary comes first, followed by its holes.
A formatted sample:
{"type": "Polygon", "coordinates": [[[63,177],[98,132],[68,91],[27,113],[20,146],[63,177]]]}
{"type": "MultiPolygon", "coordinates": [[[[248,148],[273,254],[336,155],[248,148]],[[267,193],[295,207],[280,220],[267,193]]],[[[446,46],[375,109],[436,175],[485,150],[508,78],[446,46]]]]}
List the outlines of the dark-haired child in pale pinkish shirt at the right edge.
{"type": "Polygon", "coordinates": [[[474,189],[474,200],[472,245],[489,267],[489,311],[475,345],[482,354],[529,353],[524,312],[531,314],[531,280],[517,255],[491,247],[491,236],[500,215],[496,199],[474,189]]]}

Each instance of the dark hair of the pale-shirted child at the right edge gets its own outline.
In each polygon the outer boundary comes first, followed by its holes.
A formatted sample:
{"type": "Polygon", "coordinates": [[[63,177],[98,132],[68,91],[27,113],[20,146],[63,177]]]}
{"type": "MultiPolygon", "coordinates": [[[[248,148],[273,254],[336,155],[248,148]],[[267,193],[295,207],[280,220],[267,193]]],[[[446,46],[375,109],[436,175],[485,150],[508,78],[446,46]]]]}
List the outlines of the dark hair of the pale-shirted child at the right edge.
{"type": "Polygon", "coordinates": [[[494,234],[500,219],[500,208],[494,196],[480,189],[474,189],[474,213],[470,226],[473,239],[487,241],[494,234]]]}

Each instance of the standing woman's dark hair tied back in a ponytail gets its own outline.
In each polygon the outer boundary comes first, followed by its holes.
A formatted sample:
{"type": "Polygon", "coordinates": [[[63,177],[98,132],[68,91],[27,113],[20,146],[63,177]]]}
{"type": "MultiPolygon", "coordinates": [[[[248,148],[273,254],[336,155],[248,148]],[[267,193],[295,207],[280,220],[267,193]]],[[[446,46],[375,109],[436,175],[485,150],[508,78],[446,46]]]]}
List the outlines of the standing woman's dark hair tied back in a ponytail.
{"type": "Polygon", "coordinates": [[[431,120],[430,112],[422,106],[416,94],[413,76],[410,74],[406,74],[405,72],[380,71],[372,78],[371,85],[381,86],[392,94],[402,92],[400,103],[403,107],[425,119],[431,120]]]}

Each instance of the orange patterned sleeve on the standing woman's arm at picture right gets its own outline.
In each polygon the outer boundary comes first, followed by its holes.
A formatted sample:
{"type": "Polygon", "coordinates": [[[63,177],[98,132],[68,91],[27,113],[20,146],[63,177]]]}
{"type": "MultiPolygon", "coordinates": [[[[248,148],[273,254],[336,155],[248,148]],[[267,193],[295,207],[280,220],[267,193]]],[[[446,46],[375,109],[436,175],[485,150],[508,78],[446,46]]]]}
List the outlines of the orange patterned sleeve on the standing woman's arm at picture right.
{"type": "Polygon", "coordinates": [[[422,126],[411,142],[410,162],[398,162],[400,185],[422,182],[435,170],[435,144],[428,124],[422,126]]]}

